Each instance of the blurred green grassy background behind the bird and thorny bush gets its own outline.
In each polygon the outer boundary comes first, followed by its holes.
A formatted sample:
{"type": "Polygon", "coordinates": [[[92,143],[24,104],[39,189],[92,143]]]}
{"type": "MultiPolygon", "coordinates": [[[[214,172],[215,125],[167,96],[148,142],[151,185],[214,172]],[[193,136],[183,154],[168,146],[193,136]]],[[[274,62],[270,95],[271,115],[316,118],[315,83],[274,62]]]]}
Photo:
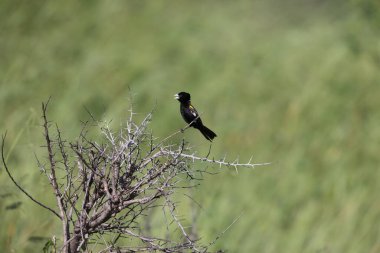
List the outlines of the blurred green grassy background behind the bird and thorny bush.
{"type": "MultiPolygon", "coordinates": [[[[119,126],[128,87],[137,117],[156,106],[155,136],[184,126],[173,94],[188,91],[218,134],[212,156],[273,162],[192,193],[202,242],[242,213],[212,250],[380,252],[379,1],[0,2],[0,130],[38,199],[55,203],[34,158],[41,102],[75,139],[84,107],[119,126]]],[[[197,131],[182,137],[207,153],[197,131]]],[[[0,223],[2,252],[41,252],[36,237],[60,233],[2,168],[0,223]]]]}

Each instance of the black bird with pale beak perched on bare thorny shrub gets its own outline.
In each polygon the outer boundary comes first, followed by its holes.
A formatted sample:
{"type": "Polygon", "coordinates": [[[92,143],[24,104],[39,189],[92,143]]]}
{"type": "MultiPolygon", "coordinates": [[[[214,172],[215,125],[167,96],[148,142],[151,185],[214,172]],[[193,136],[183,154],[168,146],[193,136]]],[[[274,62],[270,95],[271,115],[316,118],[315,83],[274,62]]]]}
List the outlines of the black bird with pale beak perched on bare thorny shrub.
{"type": "Polygon", "coordinates": [[[180,92],[175,94],[174,98],[181,103],[180,112],[186,123],[201,131],[207,140],[212,141],[216,137],[216,134],[203,125],[197,110],[191,105],[190,94],[187,92],[180,92]]]}

